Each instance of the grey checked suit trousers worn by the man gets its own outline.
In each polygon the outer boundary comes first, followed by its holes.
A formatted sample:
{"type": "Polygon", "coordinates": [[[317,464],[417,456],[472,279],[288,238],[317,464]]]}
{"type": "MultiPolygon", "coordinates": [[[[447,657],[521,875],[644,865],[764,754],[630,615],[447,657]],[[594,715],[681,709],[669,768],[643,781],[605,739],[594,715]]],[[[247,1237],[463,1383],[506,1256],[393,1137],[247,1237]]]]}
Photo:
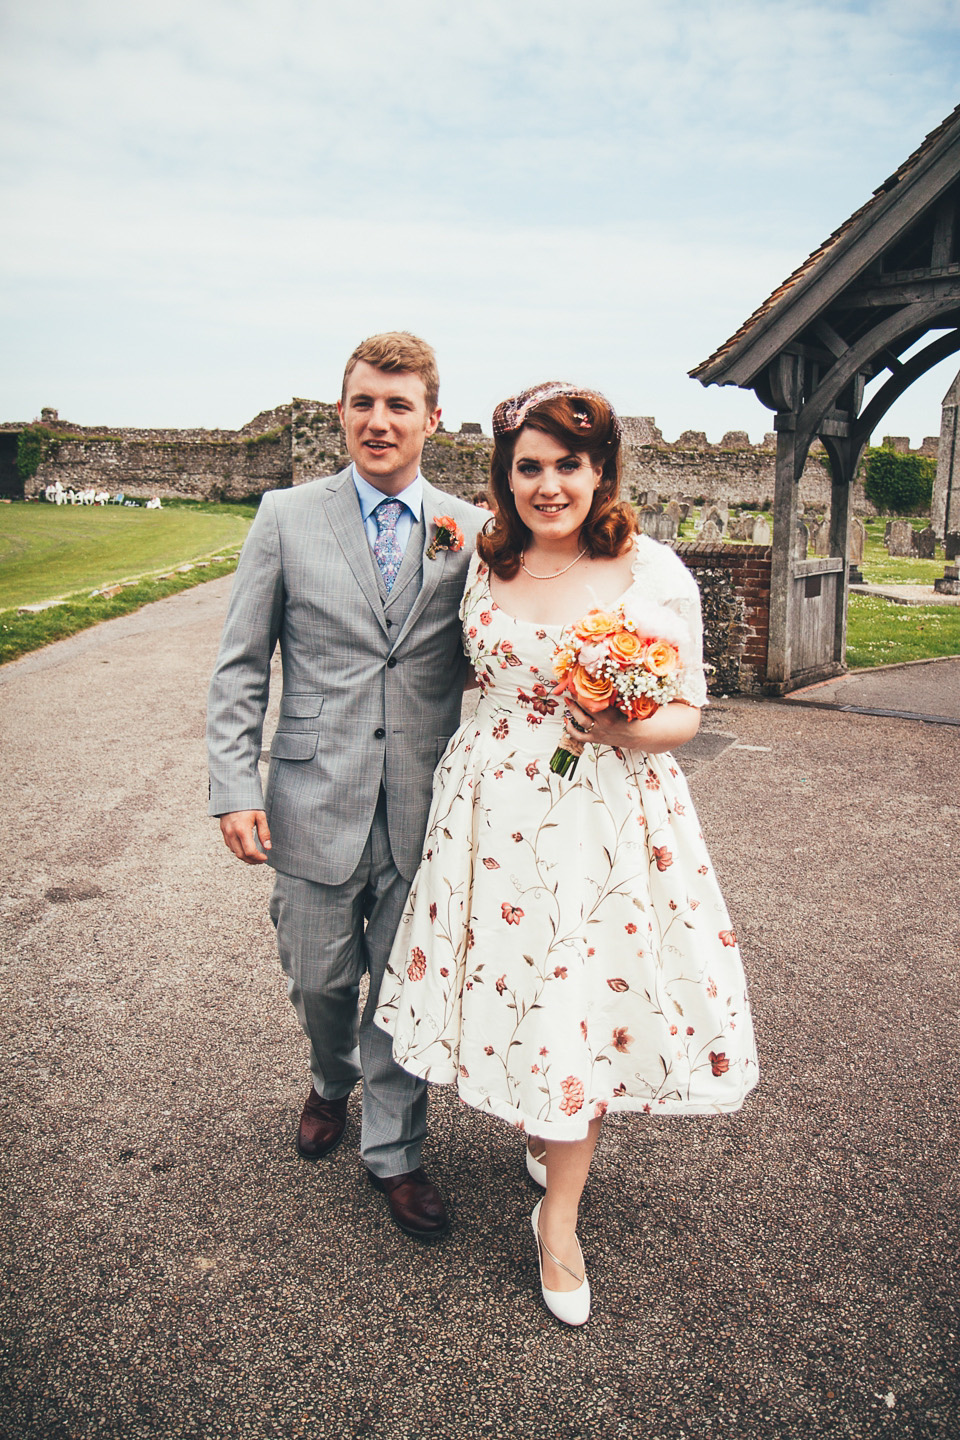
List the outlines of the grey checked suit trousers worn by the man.
{"type": "Polygon", "coordinates": [[[309,1040],[314,1089],[337,1100],[363,1079],[360,1153],[380,1176],[416,1169],[426,1135],[426,1084],[396,1064],[390,1035],[373,1022],[409,888],[390,852],[381,792],[350,880],[321,886],[278,873],[271,897],[288,994],[309,1040]],[[358,1017],[364,971],[370,992],[358,1017]]]}

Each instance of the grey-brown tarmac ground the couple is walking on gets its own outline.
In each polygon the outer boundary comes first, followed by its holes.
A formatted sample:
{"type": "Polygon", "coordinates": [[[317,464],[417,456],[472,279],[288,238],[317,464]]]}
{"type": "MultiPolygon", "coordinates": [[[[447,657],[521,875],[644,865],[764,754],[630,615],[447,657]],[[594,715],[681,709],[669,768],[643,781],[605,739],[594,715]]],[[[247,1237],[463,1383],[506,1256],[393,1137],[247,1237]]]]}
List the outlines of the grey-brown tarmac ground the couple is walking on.
{"type": "Polygon", "coordinates": [[[761,1083],[604,1125],[571,1331],[508,1128],[432,1093],[432,1247],[356,1099],[325,1162],[294,1151],[269,874],[204,815],[227,588],[0,670],[0,1437],[957,1437],[956,724],[724,698],[681,752],[761,1083]]]}

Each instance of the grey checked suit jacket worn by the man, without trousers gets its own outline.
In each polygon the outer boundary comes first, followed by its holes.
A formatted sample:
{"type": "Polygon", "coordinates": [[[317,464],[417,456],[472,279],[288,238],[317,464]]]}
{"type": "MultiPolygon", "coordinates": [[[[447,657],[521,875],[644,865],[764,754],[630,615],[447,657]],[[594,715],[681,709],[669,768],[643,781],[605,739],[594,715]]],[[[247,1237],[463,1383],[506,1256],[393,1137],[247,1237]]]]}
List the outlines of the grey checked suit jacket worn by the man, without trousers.
{"type": "Polygon", "coordinates": [[[230,592],[207,746],[210,814],[265,808],[276,870],[343,884],[383,783],[393,858],[413,877],[433,770],[459,724],[459,603],[486,518],[425,481],[425,524],[387,598],[350,468],[263,495],[230,592]],[[465,544],[427,559],[436,514],[453,516],[465,544]],[[284,693],[263,804],[258,762],[278,644],[284,693]]]}

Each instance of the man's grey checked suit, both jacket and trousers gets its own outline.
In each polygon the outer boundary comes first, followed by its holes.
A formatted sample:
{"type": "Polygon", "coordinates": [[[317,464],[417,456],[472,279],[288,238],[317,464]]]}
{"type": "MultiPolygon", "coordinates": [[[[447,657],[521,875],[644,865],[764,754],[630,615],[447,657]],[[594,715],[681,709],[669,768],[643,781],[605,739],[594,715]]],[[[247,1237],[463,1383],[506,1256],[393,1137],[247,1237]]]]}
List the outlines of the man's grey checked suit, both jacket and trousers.
{"type": "Polygon", "coordinates": [[[314,1084],[327,1099],[347,1094],[363,1064],[361,1151],[380,1175],[419,1165],[426,1125],[423,1087],[393,1064],[373,1008],[420,861],[433,769],[459,723],[458,611],[486,518],[425,481],[423,521],[387,596],[350,468],[269,491],[210,684],[210,814],[266,809],[278,871],[271,913],[314,1084]],[[436,514],[452,514],[466,543],[427,559],[436,514]],[[265,804],[258,760],[278,644],[284,693],[265,804]],[[364,969],[370,999],[357,1034],[364,969]]]}

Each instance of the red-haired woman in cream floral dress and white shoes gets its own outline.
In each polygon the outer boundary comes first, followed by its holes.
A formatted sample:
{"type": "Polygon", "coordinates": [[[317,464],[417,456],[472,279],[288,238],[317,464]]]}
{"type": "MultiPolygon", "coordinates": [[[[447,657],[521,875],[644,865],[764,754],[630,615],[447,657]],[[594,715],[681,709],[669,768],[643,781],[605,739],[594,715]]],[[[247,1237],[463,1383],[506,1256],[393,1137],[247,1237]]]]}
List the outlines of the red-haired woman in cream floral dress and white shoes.
{"type": "Polygon", "coordinates": [[[757,1083],[737,939],[672,750],[707,703],[697,585],[619,500],[620,425],[547,383],[497,408],[495,517],[461,609],[481,688],[435,776],[380,992],[396,1060],[527,1135],[541,1293],[590,1313],[580,1197],[607,1112],[710,1115],[757,1083]],[[561,631],[642,598],[682,622],[679,698],[646,720],[558,693],[561,631]],[[573,778],[560,740],[587,742],[573,778]]]}

